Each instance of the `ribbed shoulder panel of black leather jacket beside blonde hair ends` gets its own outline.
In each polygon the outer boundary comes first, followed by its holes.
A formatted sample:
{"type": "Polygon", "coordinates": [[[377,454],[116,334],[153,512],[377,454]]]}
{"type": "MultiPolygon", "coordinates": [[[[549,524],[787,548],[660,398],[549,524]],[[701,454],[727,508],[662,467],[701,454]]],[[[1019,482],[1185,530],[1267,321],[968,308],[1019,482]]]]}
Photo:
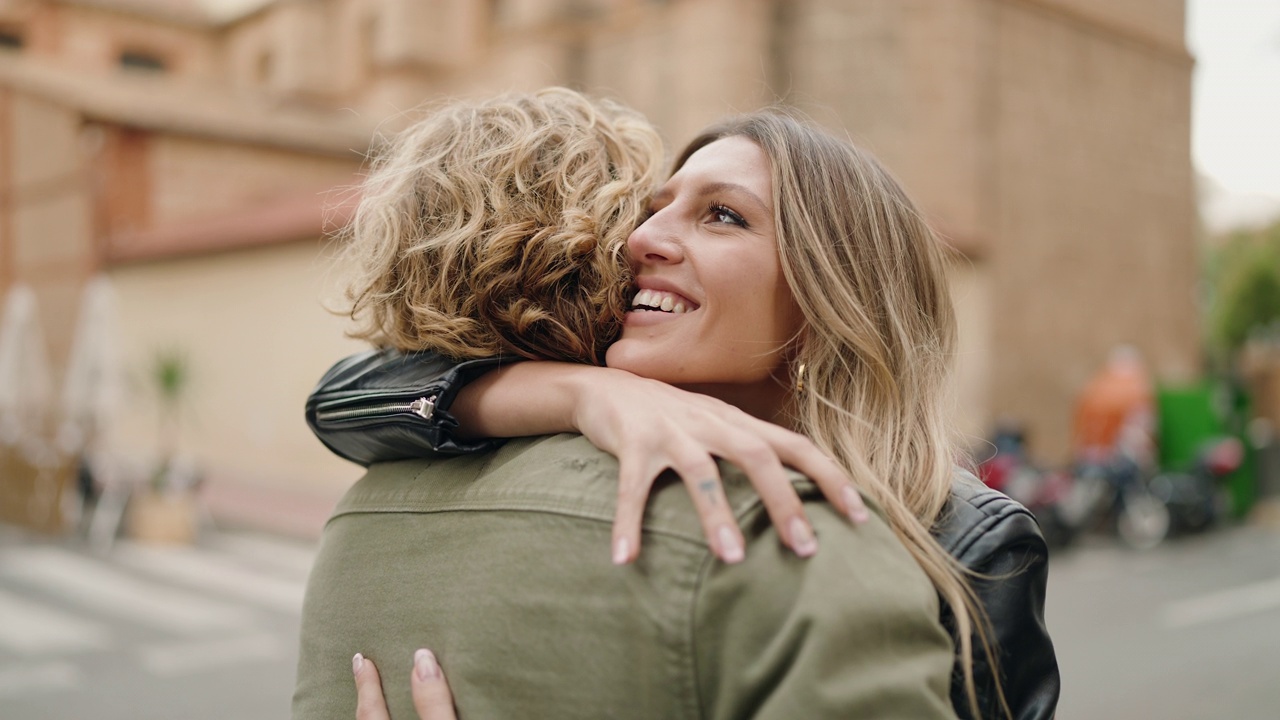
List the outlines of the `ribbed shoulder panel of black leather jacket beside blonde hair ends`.
{"type": "Polygon", "coordinates": [[[972,473],[956,469],[951,497],[933,529],[942,547],[969,569],[1001,552],[1047,553],[1036,516],[972,473]]]}

